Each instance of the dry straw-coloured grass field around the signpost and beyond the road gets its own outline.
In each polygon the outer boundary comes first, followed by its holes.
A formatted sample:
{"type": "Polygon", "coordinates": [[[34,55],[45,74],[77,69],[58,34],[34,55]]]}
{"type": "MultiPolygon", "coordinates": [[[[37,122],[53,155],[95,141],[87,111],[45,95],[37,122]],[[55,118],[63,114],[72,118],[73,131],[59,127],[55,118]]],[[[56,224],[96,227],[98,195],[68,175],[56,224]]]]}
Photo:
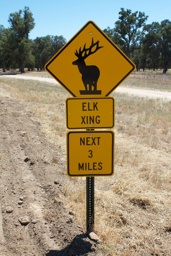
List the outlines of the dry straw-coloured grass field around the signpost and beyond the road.
{"type": "MultiPolygon", "coordinates": [[[[170,91],[170,71],[167,76],[158,71],[157,79],[156,72],[146,72],[145,78],[143,71],[135,72],[123,84],[170,91]]],[[[26,101],[23,114],[41,124],[66,158],[65,99],[71,95],[52,83],[12,78],[0,79],[0,95],[26,101]]],[[[102,239],[98,246],[109,256],[171,255],[171,101],[116,92],[111,96],[115,173],[95,177],[95,232],[102,239]]],[[[48,148],[44,157],[51,164],[48,148]]],[[[64,194],[86,230],[85,178],[69,178],[64,194]]]]}

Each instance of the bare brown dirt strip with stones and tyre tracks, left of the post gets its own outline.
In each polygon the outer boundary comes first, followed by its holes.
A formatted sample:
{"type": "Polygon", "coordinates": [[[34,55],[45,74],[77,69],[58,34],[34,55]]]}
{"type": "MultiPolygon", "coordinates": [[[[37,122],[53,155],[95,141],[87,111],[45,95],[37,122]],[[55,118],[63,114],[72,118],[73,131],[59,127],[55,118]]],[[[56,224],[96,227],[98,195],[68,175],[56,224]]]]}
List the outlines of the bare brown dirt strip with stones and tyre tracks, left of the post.
{"type": "Polygon", "coordinates": [[[103,255],[69,212],[60,146],[46,140],[26,104],[0,97],[0,255],[103,255]]]}

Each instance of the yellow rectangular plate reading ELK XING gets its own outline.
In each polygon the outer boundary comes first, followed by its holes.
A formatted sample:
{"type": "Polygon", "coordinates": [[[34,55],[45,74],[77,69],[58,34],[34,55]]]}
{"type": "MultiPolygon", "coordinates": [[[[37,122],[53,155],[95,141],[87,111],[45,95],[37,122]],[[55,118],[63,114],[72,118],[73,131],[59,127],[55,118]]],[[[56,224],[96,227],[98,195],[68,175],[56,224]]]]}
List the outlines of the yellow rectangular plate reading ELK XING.
{"type": "Polygon", "coordinates": [[[113,97],[67,98],[67,129],[109,129],[115,125],[113,97]]]}

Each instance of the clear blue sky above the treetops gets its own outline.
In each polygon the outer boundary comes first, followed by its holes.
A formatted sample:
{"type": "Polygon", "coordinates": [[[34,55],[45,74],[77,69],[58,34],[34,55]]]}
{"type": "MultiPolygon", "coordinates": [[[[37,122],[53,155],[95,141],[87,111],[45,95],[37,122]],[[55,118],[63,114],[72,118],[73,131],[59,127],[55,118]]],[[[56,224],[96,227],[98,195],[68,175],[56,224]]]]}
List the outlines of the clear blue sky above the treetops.
{"type": "Polygon", "coordinates": [[[35,18],[35,28],[30,38],[46,35],[63,35],[67,41],[83,27],[88,20],[93,20],[102,30],[114,27],[118,20],[120,8],[140,11],[148,15],[147,24],[153,21],[171,20],[171,3],[137,0],[41,0],[41,1],[3,1],[0,0],[0,24],[9,26],[8,15],[28,6],[35,18]]]}

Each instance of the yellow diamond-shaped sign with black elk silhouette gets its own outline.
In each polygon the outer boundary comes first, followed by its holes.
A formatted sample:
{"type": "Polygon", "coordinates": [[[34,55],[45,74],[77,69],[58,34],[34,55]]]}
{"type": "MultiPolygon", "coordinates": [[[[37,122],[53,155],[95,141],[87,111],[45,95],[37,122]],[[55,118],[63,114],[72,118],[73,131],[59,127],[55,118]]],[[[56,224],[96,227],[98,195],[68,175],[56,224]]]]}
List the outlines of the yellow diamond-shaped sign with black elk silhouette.
{"type": "Polygon", "coordinates": [[[45,69],[73,97],[104,97],[135,70],[135,65],[89,21],[49,60],[45,69]]]}

